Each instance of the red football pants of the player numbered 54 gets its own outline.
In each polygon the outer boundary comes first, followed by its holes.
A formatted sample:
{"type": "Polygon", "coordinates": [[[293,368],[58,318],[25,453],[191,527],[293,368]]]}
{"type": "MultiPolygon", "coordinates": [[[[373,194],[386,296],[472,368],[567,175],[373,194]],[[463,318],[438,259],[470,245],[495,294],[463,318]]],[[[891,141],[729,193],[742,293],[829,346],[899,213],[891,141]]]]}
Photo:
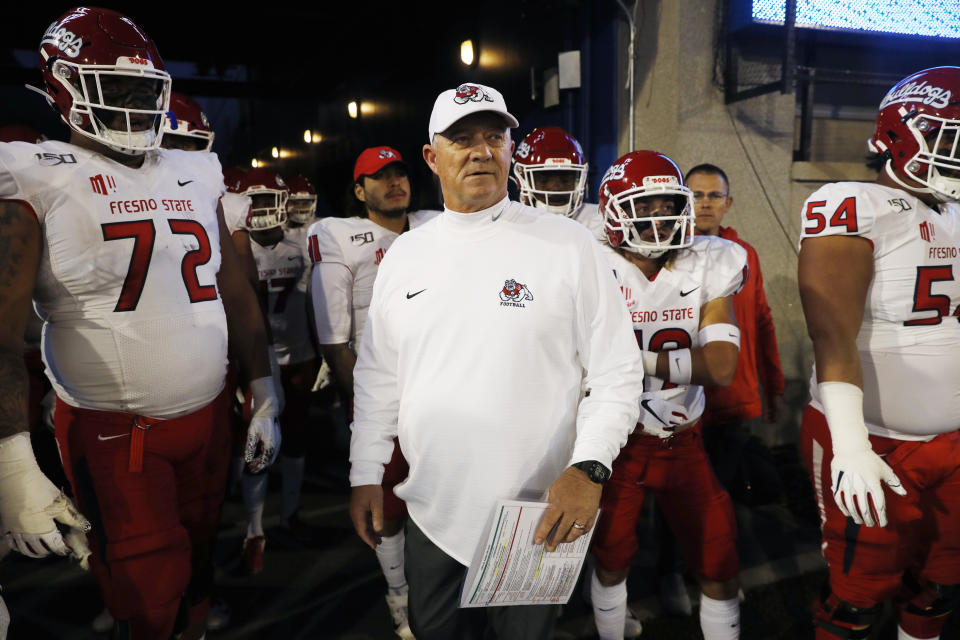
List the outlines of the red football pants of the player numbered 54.
{"type": "Polygon", "coordinates": [[[884,488],[888,524],[882,528],[858,526],[840,512],[831,490],[827,420],[813,407],[804,411],[801,453],[817,494],[831,591],[869,608],[897,594],[907,570],[960,584],[960,433],[929,442],[870,436],[870,443],[907,490],[898,496],[884,488]]]}

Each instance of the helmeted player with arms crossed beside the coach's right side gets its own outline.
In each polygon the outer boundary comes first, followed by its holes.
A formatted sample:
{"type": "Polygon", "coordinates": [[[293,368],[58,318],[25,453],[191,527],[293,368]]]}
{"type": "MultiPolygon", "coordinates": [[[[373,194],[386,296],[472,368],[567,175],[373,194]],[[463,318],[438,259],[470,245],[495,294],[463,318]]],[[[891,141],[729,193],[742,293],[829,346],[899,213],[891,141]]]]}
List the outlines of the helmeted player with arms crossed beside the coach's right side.
{"type": "Polygon", "coordinates": [[[600,210],[610,266],[643,350],[640,423],[614,460],[593,538],[591,596],[600,638],[624,637],[626,579],[648,491],[700,582],[706,640],[739,637],[736,521],[700,438],[703,387],[729,384],[740,331],[730,296],[746,252],[693,235],[693,195],[667,156],[633,151],[607,170],[600,210]]]}

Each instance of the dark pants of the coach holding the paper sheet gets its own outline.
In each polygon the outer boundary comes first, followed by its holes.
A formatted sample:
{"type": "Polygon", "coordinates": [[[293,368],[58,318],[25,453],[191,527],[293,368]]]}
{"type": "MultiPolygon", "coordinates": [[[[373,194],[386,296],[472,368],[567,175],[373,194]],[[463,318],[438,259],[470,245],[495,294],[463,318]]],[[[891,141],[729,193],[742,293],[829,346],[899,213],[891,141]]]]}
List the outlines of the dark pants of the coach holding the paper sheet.
{"type": "Polygon", "coordinates": [[[557,605],[460,609],[467,568],[441,551],[407,519],[410,628],[417,640],[549,640],[557,605]]]}

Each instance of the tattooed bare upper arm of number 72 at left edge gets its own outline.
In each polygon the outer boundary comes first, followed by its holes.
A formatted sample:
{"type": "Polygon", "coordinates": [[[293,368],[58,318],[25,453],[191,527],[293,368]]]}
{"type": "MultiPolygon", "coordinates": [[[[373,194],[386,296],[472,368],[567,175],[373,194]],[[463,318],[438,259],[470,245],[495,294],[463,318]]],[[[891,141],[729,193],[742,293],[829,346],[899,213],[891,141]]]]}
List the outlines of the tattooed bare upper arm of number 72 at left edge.
{"type": "Polygon", "coordinates": [[[27,429],[23,332],[40,264],[40,224],[15,201],[0,201],[0,440],[27,429]]]}

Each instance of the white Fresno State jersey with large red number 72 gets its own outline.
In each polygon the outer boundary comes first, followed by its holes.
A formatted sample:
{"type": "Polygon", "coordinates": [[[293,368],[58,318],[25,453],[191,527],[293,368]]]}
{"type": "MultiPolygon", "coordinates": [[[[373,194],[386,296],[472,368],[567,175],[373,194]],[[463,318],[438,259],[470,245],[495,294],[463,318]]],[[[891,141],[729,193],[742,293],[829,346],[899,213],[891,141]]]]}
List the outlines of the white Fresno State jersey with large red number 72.
{"type": "Polygon", "coordinates": [[[0,144],[0,198],[43,231],[34,302],[63,400],[170,418],[220,393],[222,190],[212,153],[152,151],[133,169],[63,142],[0,144]]]}

